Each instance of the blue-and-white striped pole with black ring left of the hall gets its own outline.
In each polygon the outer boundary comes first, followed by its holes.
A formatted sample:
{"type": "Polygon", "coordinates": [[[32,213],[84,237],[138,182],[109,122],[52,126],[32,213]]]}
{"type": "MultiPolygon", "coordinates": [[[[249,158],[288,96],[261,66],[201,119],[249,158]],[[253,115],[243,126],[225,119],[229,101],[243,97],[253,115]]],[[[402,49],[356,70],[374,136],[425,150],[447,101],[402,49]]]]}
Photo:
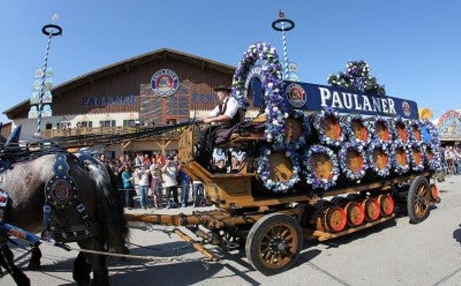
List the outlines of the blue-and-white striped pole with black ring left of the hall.
{"type": "Polygon", "coordinates": [[[46,79],[46,70],[48,66],[48,55],[50,55],[50,45],[51,45],[51,38],[53,36],[59,36],[62,34],[62,28],[56,24],[59,15],[54,14],[52,16],[52,24],[45,24],[42,27],[42,33],[45,36],[48,36],[46,49],[45,49],[45,59],[43,60],[43,75],[42,75],[42,82],[40,87],[40,97],[38,101],[38,114],[37,114],[37,132],[36,136],[40,137],[41,134],[41,120],[42,120],[42,109],[43,109],[43,93],[45,92],[45,79],[46,79]]]}

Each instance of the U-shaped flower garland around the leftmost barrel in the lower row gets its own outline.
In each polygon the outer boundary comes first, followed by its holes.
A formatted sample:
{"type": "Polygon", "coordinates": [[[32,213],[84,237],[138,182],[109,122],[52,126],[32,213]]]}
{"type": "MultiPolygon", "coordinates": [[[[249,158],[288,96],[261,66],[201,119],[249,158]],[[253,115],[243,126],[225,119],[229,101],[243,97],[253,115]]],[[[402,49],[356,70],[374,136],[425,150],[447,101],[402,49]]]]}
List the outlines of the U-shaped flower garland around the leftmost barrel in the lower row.
{"type": "Polygon", "coordinates": [[[271,154],[271,150],[269,148],[263,147],[260,153],[260,156],[256,158],[256,164],[258,168],[256,169],[256,173],[258,177],[263,182],[263,185],[275,193],[286,193],[288,190],[293,188],[293,186],[298,183],[300,179],[300,163],[299,163],[299,156],[296,152],[289,152],[286,151],[286,157],[291,159],[291,163],[293,164],[293,174],[291,178],[289,178],[285,182],[277,182],[270,178],[270,169],[269,169],[269,155],[271,154]]]}

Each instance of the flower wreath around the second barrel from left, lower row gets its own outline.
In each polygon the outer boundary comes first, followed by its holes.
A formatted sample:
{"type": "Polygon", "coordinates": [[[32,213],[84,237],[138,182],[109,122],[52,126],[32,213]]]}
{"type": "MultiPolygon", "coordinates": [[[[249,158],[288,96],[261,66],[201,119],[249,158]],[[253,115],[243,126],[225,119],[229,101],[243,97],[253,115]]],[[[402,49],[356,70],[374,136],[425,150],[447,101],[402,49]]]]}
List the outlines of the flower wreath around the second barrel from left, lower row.
{"type": "Polygon", "coordinates": [[[304,175],[306,182],[307,184],[312,185],[314,190],[323,189],[326,191],[330,189],[330,187],[334,187],[336,185],[336,181],[339,177],[339,167],[335,152],[333,152],[330,148],[323,145],[312,145],[309,150],[302,155],[302,166],[305,168],[304,175]],[[319,179],[316,176],[311,164],[311,157],[314,154],[325,154],[330,158],[330,161],[332,162],[332,178],[319,179]]]}

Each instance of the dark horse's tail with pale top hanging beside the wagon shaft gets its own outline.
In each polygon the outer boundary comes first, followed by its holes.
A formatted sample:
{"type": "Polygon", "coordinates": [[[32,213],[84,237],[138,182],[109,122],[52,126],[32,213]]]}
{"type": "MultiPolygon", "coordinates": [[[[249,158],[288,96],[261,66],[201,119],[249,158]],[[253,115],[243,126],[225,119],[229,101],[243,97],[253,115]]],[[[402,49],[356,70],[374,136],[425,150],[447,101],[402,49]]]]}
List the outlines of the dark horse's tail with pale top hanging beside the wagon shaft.
{"type": "Polygon", "coordinates": [[[96,219],[100,222],[109,250],[126,252],[129,231],[124,218],[122,199],[105,164],[88,165],[89,174],[96,185],[96,219]]]}

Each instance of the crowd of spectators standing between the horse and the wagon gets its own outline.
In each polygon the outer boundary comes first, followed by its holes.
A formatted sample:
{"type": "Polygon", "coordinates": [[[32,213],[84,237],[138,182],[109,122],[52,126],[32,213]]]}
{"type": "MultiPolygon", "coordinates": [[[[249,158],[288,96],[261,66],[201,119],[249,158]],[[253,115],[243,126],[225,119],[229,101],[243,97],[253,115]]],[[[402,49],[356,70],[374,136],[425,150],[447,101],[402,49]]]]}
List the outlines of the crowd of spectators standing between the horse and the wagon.
{"type": "Polygon", "coordinates": [[[100,159],[109,164],[118,178],[126,208],[136,207],[136,196],[139,196],[140,208],[145,209],[186,207],[189,203],[200,206],[204,203],[203,184],[187,176],[175,153],[154,153],[151,157],[138,152],[135,157],[122,155],[118,159],[108,160],[101,155],[100,159]],[[191,188],[192,199],[189,201],[191,188]]]}

